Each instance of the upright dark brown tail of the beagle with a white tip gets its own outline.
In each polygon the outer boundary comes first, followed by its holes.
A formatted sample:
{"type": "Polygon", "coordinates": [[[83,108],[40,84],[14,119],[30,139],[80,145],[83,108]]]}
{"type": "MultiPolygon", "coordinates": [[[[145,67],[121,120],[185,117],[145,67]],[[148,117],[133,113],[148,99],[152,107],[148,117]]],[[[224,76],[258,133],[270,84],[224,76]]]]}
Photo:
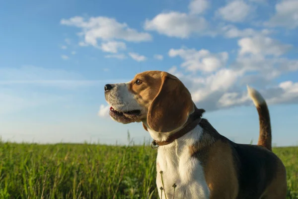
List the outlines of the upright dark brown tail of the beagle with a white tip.
{"type": "Polygon", "coordinates": [[[267,103],[262,95],[255,89],[247,86],[247,91],[259,114],[260,133],[258,145],[272,151],[271,123],[267,103]]]}

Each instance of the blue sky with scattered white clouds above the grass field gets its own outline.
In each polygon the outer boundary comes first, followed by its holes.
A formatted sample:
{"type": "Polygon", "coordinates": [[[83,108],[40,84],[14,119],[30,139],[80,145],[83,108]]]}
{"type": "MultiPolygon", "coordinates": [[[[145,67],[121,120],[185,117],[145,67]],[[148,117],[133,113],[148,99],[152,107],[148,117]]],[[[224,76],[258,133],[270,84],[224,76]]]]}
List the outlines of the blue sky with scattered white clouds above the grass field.
{"type": "Polygon", "coordinates": [[[104,85],[159,70],[238,143],[257,143],[257,89],[273,145],[298,145],[298,0],[1,1],[0,35],[2,140],[150,140],[109,118],[104,85]]]}

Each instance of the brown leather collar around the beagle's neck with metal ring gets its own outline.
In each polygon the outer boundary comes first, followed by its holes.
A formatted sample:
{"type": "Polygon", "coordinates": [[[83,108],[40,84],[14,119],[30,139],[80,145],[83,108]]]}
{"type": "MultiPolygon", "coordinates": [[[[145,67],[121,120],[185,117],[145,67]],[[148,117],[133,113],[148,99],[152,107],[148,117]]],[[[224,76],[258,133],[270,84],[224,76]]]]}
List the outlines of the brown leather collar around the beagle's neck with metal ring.
{"type": "Polygon", "coordinates": [[[158,146],[163,146],[163,145],[172,143],[175,139],[178,139],[183,135],[185,135],[186,133],[193,130],[201,122],[201,120],[202,120],[202,109],[197,109],[195,107],[195,111],[189,116],[188,120],[186,121],[186,125],[181,130],[170,135],[165,141],[158,142],[156,140],[153,140],[151,142],[151,148],[157,149],[158,146]]]}

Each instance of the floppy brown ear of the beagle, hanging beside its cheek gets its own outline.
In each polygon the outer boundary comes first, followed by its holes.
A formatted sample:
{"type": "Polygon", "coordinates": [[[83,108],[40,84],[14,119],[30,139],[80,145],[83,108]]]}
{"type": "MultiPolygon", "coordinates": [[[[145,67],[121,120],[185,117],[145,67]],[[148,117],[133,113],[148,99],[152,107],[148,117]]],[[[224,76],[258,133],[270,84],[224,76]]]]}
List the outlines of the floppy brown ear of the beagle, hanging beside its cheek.
{"type": "Polygon", "coordinates": [[[191,94],[175,76],[164,73],[158,94],[150,104],[147,123],[156,132],[170,132],[182,126],[194,111],[191,94]]]}

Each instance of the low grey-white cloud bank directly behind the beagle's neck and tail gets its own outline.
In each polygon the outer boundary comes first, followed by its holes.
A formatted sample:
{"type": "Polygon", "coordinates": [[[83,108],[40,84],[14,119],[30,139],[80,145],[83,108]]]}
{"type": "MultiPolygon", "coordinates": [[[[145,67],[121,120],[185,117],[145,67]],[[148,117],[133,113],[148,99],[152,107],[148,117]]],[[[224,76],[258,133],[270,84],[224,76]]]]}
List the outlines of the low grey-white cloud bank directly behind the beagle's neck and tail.
{"type": "MultiPolygon", "coordinates": [[[[198,107],[208,111],[252,104],[247,95],[246,83],[239,84],[245,77],[241,71],[221,69],[210,76],[183,75],[177,68],[170,69],[190,90],[192,99],[198,107]]],[[[297,103],[298,82],[283,82],[278,86],[259,89],[268,104],[297,103]]]]}

